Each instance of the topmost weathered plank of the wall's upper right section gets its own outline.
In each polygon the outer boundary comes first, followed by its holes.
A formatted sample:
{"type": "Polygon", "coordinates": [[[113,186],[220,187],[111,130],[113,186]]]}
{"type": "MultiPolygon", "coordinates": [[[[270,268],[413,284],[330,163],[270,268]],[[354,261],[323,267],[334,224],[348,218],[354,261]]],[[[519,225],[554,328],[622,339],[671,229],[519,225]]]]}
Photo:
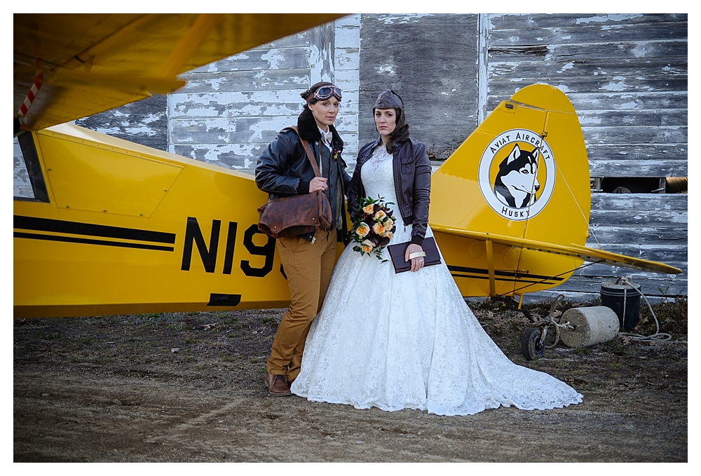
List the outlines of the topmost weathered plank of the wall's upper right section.
{"type": "Polygon", "coordinates": [[[649,23],[679,23],[687,22],[686,13],[669,14],[582,14],[573,13],[562,14],[494,14],[489,15],[489,29],[533,29],[533,28],[563,28],[578,25],[599,25],[601,27],[611,27],[618,25],[645,25],[649,23]]]}

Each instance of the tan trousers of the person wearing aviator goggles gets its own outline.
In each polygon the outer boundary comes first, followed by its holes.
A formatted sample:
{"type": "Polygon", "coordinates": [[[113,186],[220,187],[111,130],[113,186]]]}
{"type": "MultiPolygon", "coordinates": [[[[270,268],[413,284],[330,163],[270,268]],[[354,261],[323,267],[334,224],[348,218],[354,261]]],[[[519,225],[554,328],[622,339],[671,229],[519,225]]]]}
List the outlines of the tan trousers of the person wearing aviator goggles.
{"type": "Polygon", "coordinates": [[[277,247],[290,286],[290,308],[275,334],[268,372],[297,378],[312,320],[321,310],[336,264],[336,230],[318,231],[311,243],[298,236],[278,238],[277,247]]]}

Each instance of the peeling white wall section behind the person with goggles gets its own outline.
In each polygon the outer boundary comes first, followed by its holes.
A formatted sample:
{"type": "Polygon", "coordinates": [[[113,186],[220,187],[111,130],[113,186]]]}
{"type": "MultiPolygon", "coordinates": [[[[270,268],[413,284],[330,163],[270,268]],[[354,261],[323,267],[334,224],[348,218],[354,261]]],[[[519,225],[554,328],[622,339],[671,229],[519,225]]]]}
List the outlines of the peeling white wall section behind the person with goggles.
{"type": "Polygon", "coordinates": [[[169,96],[170,151],[252,172],[278,131],[297,124],[299,94],[335,81],[343,90],[336,128],[344,157],[355,159],[359,27],[357,18],[344,18],[185,74],[187,85],[169,96]]]}

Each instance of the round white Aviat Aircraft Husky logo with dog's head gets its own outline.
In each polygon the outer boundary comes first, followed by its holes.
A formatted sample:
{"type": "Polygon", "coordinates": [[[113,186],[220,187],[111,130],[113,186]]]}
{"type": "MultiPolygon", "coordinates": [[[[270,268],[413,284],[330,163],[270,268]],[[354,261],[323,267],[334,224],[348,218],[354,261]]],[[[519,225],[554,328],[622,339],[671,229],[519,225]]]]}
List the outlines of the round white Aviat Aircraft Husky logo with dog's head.
{"type": "Polygon", "coordinates": [[[550,146],[536,132],[511,129],[496,136],[479,161],[479,189],[502,217],[533,218],[547,205],[555,184],[550,146]]]}

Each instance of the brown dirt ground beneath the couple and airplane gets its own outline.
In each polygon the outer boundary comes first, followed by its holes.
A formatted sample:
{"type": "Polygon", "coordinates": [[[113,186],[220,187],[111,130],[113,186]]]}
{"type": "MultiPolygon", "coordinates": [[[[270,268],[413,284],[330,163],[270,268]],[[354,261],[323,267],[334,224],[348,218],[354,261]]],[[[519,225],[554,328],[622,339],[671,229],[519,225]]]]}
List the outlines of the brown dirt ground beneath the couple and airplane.
{"type": "MultiPolygon", "coordinates": [[[[686,344],[618,336],[527,361],[522,313],[470,307],[513,362],[584,402],[435,416],[269,397],[283,309],[15,319],[14,461],[687,461],[686,344]]],[[[655,308],[662,331],[686,341],[686,300],[655,308]]],[[[643,311],[635,330],[649,335],[643,311]]]]}

